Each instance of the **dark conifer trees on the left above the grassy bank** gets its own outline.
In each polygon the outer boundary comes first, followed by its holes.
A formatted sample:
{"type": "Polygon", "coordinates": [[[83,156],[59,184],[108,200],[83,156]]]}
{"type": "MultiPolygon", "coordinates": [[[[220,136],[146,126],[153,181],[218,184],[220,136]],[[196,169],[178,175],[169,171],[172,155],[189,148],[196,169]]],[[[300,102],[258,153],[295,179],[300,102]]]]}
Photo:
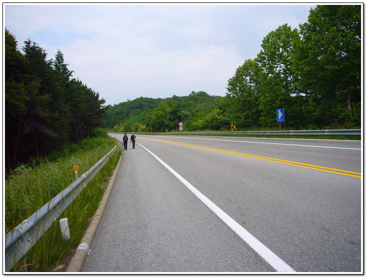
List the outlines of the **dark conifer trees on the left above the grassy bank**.
{"type": "Polygon", "coordinates": [[[79,79],[57,50],[54,60],[27,40],[18,49],[5,28],[5,170],[30,157],[92,136],[103,122],[105,100],[79,79]]]}

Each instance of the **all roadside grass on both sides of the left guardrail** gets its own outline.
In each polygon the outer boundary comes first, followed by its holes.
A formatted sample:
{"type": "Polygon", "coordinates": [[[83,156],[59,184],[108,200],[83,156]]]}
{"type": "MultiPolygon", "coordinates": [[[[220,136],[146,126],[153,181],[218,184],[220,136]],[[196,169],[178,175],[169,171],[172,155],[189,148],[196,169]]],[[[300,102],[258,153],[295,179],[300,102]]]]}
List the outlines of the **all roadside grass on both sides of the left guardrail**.
{"type": "MultiPolygon", "coordinates": [[[[11,231],[31,216],[51,198],[75,181],[73,166],[79,166],[78,175],[89,170],[116,145],[116,140],[103,132],[99,137],[85,139],[77,145],[62,150],[56,161],[45,159],[38,166],[21,166],[5,181],[5,231],[11,231]]],[[[58,261],[79,241],[88,226],[89,219],[99,205],[100,198],[121,155],[121,147],[111,156],[91,183],[77,196],[60,216],[68,218],[71,239],[64,241],[59,219],[27,253],[29,272],[50,272],[58,261]]],[[[53,157],[56,153],[52,154],[53,157]]]]}

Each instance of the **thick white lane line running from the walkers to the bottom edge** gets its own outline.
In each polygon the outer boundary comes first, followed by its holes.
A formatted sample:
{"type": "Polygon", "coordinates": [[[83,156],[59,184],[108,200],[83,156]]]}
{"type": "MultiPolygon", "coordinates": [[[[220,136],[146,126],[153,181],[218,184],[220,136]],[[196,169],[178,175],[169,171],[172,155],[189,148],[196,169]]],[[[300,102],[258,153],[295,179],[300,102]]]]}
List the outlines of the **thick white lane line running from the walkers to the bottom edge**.
{"type": "Polygon", "coordinates": [[[190,189],[207,207],[210,208],[222,221],[224,221],[235,233],[237,233],[248,245],[256,251],[267,263],[269,263],[277,272],[295,272],[289,265],[282,261],[276,254],[268,249],[262,242],[256,239],[251,233],[246,231],[240,224],[234,221],[227,213],[216,206],[210,199],[198,191],[193,185],[186,181],[174,169],[162,161],[149,149],[139,144],[147,152],[155,157],[163,166],[165,166],[175,177],[177,177],[186,187],[190,189]]]}

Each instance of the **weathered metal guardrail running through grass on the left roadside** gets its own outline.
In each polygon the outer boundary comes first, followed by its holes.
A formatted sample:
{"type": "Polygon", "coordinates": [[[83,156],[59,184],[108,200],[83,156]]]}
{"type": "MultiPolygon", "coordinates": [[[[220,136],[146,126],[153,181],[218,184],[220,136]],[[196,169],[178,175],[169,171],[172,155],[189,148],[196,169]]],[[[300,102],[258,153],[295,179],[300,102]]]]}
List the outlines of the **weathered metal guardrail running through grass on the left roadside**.
{"type": "Polygon", "coordinates": [[[5,234],[5,271],[9,272],[36,244],[42,235],[60,217],[80,192],[92,181],[94,176],[109,160],[117,146],[95,163],[75,182],[53,197],[41,209],[24,220],[12,231],[5,234]]]}

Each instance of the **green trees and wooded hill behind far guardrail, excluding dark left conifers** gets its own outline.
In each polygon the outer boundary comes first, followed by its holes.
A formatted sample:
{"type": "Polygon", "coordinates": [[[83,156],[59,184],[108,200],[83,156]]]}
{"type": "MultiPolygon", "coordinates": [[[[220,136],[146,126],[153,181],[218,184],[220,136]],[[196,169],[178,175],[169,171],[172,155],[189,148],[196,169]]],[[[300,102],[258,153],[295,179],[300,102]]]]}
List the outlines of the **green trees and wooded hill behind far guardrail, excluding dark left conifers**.
{"type": "Polygon", "coordinates": [[[226,96],[140,97],[110,107],[103,126],[161,132],[188,118],[190,131],[276,128],[283,108],[285,128],[361,128],[361,5],[318,5],[299,29],[279,26],[261,46],[236,69],[226,96]]]}

